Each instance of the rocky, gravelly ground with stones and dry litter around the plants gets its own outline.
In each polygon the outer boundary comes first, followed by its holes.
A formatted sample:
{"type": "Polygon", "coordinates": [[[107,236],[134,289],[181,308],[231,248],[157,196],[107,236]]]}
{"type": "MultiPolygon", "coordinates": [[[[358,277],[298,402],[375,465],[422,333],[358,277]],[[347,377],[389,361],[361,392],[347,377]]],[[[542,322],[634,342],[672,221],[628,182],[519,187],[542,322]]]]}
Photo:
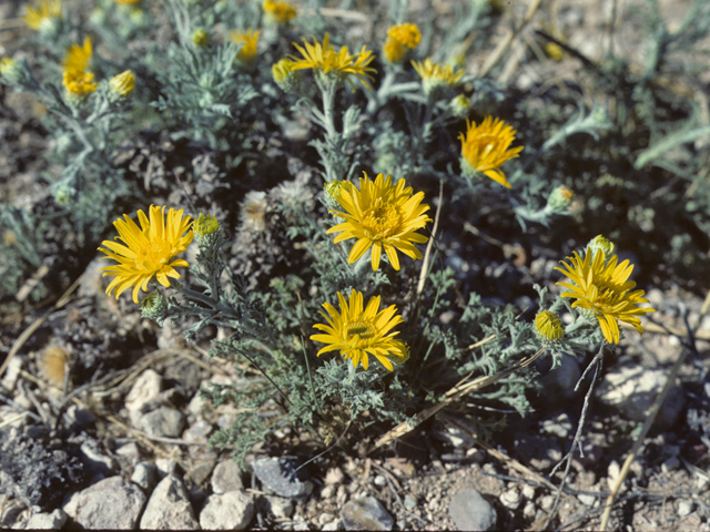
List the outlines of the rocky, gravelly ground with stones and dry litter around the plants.
{"type": "MultiPolygon", "coordinates": [[[[446,2],[435,3],[446,10],[446,2]]],[[[615,38],[605,37],[612,2],[604,9],[596,1],[554,3],[560,29],[581,52],[595,58],[615,45],[628,48],[632,58],[637,53],[633,28],[622,31],[619,21],[615,38]]],[[[0,19],[11,27],[12,2],[1,6],[8,14],[0,19]]],[[[667,9],[671,22],[674,13],[667,9]]],[[[2,43],[6,53],[11,44],[2,43]]],[[[564,66],[552,71],[547,64],[511,63],[506,75],[515,74],[520,89],[565,78],[564,66]]],[[[32,100],[8,95],[6,102],[12,113],[0,116],[2,201],[31,203],[44,194],[34,176],[55,168],[38,156],[47,141],[33,122],[32,100]]],[[[519,268],[547,282],[555,265],[540,258],[519,268]]],[[[581,449],[550,524],[561,479],[552,469],[579,423],[590,379],[579,390],[575,386],[589,357],[566,357],[555,370],[540,365],[542,393],[534,399],[535,411],[525,419],[511,415],[508,428],[487,443],[455,413],[372,456],[337,448],[318,456],[307,434],[284,428],[268,447],[253,450],[243,471],[229,449],[207,446],[217,428],[232,423],[234,407],[207,407],[199,393],[210,382],[233,379],[231,365],[206,361],[207,345],[187,346],[171,327],[142,320],[134,305],[108,298],[99,266],[85,269],[68,303],[22,340],[0,376],[1,526],[596,530],[649,409],[683,355],[674,386],[625,475],[609,529],[710,530],[710,319],[697,295],[672,285],[650,290],[659,325],[641,338],[627,335],[606,357],[581,449]],[[64,372],[67,350],[89,375],[79,388],[57,377],[64,372]],[[101,378],[91,379],[93,374],[101,378]],[[58,428],[73,436],[60,440],[58,428]]],[[[44,313],[3,313],[0,344],[12,346],[44,313]]]]}

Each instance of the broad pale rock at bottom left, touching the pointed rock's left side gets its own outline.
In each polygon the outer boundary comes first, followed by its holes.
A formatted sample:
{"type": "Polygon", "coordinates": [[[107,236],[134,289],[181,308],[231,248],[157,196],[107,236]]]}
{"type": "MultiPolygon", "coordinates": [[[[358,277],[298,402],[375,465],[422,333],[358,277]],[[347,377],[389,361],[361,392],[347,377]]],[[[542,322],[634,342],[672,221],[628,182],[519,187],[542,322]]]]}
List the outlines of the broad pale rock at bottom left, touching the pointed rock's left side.
{"type": "Polygon", "coordinates": [[[81,491],[73,499],[75,510],[67,511],[87,530],[135,528],[145,494],[121,477],[109,477],[81,491]]]}

